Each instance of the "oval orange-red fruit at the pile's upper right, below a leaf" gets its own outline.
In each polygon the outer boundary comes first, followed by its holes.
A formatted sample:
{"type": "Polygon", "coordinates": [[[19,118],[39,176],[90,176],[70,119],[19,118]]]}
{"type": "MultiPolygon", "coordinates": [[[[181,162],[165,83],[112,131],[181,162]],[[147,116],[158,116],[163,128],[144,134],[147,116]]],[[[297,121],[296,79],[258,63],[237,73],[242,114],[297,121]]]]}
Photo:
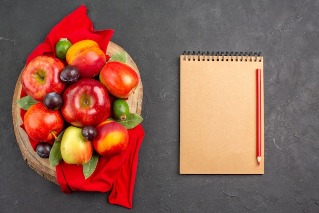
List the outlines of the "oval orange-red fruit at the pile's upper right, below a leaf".
{"type": "Polygon", "coordinates": [[[119,61],[109,61],[99,74],[99,79],[113,96],[125,99],[137,88],[139,77],[129,65],[119,61]]]}

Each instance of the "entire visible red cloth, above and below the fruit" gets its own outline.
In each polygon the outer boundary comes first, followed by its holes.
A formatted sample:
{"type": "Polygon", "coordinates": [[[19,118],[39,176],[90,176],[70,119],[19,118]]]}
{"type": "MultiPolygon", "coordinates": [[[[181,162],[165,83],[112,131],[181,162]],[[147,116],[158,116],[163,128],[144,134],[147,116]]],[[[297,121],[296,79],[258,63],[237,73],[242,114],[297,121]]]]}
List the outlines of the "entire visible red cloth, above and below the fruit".
{"type": "MultiPolygon", "coordinates": [[[[106,53],[107,46],[113,35],[113,30],[95,31],[92,22],[87,16],[87,8],[80,6],[74,12],[62,19],[49,32],[45,41],[29,55],[26,64],[38,55],[50,55],[56,57],[55,45],[60,38],[66,37],[71,43],[79,40],[91,39],[96,41],[101,50],[106,53]]],[[[109,56],[107,56],[109,58],[109,56]]],[[[21,97],[26,96],[21,91],[21,97]]],[[[25,111],[21,109],[23,121],[25,111]]],[[[23,124],[21,128],[24,129],[23,124]]],[[[144,137],[144,130],[139,124],[137,127],[128,130],[129,144],[120,155],[106,158],[99,156],[97,167],[94,173],[87,179],[84,178],[82,165],[67,164],[63,160],[56,166],[57,181],[62,192],[69,194],[72,191],[99,191],[109,192],[109,202],[132,208],[132,195],[138,164],[138,152],[144,137]]],[[[29,137],[34,150],[39,141],[29,137]]],[[[53,141],[51,141],[53,143],[53,141]]]]}

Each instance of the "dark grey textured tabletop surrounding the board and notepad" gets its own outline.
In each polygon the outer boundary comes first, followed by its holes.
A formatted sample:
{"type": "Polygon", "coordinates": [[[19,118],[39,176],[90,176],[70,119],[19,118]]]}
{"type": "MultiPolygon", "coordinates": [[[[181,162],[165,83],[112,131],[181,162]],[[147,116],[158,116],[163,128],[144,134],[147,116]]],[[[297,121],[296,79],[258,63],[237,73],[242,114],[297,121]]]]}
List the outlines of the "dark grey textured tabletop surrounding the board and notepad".
{"type": "Polygon", "coordinates": [[[319,212],[318,1],[4,0],[0,6],[0,212],[319,212]],[[141,73],[146,135],[132,209],[109,204],[109,193],[62,193],[23,161],[13,131],[12,97],[26,58],[81,4],[95,30],[115,30],[111,40],[141,73]],[[184,50],[262,52],[264,175],[179,175],[184,50]]]}

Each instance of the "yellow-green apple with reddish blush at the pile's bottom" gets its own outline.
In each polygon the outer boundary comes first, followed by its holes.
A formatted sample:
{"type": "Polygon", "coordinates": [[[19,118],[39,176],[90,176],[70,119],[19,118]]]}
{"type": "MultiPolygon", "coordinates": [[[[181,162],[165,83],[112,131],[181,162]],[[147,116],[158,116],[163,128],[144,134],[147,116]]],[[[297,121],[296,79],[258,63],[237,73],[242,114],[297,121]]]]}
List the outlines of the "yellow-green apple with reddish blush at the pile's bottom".
{"type": "Polygon", "coordinates": [[[85,164],[92,157],[92,142],[86,140],[81,131],[81,128],[69,126],[63,133],[60,150],[66,163],[85,164]]]}

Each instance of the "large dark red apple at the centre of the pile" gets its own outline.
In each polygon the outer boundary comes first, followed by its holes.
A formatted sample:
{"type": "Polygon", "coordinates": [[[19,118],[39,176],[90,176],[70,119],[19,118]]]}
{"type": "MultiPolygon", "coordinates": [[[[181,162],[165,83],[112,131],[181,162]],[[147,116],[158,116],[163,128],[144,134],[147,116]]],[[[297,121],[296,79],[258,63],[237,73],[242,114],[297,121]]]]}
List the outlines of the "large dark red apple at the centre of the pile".
{"type": "Polygon", "coordinates": [[[61,112],[76,127],[99,124],[110,113],[107,89],[97,80],[81,78],[68,86],[62,95],[61,112]]]}

